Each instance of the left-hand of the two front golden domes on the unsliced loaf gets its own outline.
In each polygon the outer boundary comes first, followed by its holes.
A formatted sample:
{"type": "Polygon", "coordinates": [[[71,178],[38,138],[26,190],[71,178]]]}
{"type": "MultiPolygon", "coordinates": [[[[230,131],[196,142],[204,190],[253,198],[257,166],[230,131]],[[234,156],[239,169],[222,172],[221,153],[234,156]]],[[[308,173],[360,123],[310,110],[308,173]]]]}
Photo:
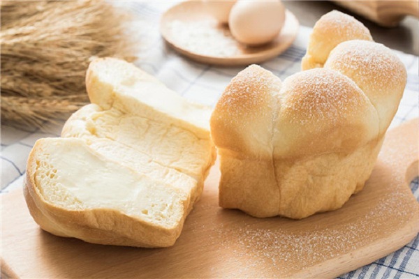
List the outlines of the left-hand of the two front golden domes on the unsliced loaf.
{"type": "Polygon", "coordinates": [[[256,157],[272,156],[272,113],[281,80],[260,66],[242,70],[228,84],[211,117],[219,149],[256,157]]]}

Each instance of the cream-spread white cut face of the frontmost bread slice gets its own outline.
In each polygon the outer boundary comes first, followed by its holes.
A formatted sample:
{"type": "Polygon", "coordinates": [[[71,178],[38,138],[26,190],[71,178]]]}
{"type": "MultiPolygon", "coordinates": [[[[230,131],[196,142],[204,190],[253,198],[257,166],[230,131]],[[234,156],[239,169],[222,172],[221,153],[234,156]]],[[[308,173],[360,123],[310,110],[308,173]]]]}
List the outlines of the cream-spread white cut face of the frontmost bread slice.
{"type": "Polygon", "coordinates": [[[36,187],[67,210],[110,209],[175,226],[188,196],[167,183],[107,160],[79,139],[44,139],[36,158],[36,187]]]}

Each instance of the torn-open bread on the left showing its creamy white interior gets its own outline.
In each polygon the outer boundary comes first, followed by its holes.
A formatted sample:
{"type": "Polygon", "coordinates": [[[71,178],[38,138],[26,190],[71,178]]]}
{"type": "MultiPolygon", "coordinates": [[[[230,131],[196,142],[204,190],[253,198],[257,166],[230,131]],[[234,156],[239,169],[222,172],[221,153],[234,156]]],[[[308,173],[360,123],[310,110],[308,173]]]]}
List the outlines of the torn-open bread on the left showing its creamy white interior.
{"type": "Polygon", "coordinates": [[[31,215],[57,236],[172,246],[215,160],[210,108],[118,59],[92,62],[86,84],[91,104],[29,155],[31,215]]]}

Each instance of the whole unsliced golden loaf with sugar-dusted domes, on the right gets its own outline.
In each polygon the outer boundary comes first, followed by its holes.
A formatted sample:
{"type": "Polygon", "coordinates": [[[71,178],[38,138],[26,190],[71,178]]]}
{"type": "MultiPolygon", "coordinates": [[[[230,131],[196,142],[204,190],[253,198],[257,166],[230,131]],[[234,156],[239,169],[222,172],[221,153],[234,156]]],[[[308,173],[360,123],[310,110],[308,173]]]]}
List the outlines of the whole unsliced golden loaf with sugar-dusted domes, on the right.
{"type": "Polygon", "coordinates": [[[256,217],[304,218],[362,190],[406,85],[406,70],[353,17],[314,27],[303,71],[249,66],[211,118],[221,157],[219,204],[256,217]]]}

